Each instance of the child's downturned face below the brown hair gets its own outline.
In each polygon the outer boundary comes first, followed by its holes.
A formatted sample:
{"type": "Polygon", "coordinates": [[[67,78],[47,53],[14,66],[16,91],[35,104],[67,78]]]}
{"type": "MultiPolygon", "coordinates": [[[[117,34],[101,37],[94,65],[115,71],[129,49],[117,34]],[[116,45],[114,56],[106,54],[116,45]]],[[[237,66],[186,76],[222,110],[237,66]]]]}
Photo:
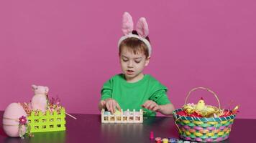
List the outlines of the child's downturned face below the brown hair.
{"type": "Polygon", "coordinates": [[[125,75],[126,79],[134,81],[137,81],[136,79],[140,78],[143,75],[143,69],[150,62],[150,57],[146,58],[144,53],[139,52],[138,54],[134,54],[132,51],[129,51],[128,48],[125,46],[122,47],[119,58],[122,72],[125,75]]]}

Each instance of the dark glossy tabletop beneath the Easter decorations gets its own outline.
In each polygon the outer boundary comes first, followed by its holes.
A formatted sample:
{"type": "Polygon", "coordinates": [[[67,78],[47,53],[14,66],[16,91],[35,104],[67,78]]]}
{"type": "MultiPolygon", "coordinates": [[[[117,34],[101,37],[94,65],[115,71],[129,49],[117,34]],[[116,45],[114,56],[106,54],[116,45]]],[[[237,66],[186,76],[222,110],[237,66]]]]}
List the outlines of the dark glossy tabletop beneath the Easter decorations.
{"type": "MultiPolygon", "coordinates": [[[[142,124],[101,124],[99,114],[73,114],[78,119],[66,117],[65,132],[34,133],[25,139],[7,137],[2,127],[0,112],[0,142],[152,142],[154,137],[178,138],[173,117],[146,117],[142,124]]],[[[255,142],[256,119],[235,119],[229,139],[224,142],[255,142]]]]}

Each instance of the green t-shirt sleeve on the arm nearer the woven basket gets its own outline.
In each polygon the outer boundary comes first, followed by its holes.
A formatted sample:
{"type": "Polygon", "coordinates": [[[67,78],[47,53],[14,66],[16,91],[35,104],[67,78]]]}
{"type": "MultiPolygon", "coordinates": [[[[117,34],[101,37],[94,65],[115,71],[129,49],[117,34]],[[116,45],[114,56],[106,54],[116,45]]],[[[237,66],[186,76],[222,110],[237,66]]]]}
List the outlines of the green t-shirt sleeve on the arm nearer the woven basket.
{"type": "Polygon", "coordinates": [[[160,84],[160,82],[156,82],[154,85],[152,85],[152,96],[150,97],[150,100],[159,105],[170,104],[170,100],[166,94],[167,91],[167,87],[160,84]]]}

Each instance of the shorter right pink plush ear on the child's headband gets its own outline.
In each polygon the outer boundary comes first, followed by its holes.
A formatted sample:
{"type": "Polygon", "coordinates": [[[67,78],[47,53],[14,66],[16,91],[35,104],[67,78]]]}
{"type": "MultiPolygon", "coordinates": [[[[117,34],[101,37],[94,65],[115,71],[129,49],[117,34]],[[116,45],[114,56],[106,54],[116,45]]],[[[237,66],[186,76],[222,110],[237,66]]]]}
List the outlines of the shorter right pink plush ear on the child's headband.
{"type": "Polygon", "coordinates": [[[147,25],[147,21],[144,17],[141,17],[137,23],[136,26],[137,33],[142,36],[143,38],[146,38],[149,34],[149,29],[147,25]]]}

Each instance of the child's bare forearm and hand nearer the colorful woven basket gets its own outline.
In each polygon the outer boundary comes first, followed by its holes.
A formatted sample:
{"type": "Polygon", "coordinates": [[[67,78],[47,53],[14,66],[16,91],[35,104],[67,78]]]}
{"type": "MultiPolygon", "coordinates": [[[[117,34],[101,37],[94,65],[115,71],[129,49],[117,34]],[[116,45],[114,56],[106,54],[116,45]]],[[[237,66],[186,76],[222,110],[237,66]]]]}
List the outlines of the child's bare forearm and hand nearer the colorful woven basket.
{"type": "Polygon", "coordinates": [[[144,104],[142,104],[142,107],[145,109],[150,109],[154,112],[160,112],[165,115],[173,114],[173,110],[175,109],[173,104],[158,105],[152,100],[147,100],[144,104]]]}

